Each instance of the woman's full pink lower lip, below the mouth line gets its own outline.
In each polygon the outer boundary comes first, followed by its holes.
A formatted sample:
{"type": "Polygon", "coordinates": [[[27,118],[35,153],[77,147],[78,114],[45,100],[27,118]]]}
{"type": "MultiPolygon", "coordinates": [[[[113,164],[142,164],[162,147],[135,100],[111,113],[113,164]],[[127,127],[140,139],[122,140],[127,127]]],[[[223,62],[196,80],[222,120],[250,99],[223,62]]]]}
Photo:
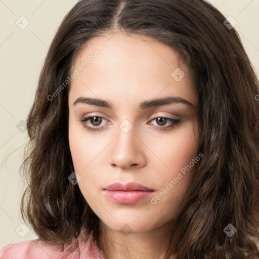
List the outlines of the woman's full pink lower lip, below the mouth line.
{"type": "Polygon", "coordinates": [[[153,191],[108,191],[105,194],[112,201],[123,204],[137,203],[148,198],[153,191]]]}

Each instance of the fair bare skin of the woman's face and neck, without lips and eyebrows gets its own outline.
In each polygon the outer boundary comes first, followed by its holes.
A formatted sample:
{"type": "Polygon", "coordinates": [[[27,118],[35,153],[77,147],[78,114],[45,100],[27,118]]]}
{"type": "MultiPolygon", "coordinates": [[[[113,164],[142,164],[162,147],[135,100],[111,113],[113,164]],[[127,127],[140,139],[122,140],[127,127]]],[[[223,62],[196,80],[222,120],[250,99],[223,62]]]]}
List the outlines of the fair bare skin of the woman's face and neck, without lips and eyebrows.
{"type": "Polygon", "coordinates": [[[78,186],[100,219],[100,240],[107,259],[163,258],[195,166],[156,204],[151,199],[198,155],[194,83],[177,52],[151,38],[117,32],[88,43],[75,58],[73,69],[96,49],[100,54],[71,81],[68,96],[69,145],[74,169],[81,177],[78,186]],[[179,67],[185,76],[177,81],[171,73],[179,67]],[[143,101],[167,96],[179,96],[193,106],[139,107],[143,101]],[[79,97],[104,99],[113,108],[74,105],[79,97]],[[79,121],[93,115],[104,119],[79,121]],[[181,121],[163,131],[173,123],[159,124],[154,119],[159,116],[181,121]],[[125,119],[133,126],[128,133],[120,128],[125,119]],[[97,131],[88,131],[83,124],[97,131]],[[155,191],[135,204],[115,203],[102,188],[117,181],[140,183],[155,191]],[[128,235],[120,230],[124,224],[130,226],[128,235]]]}

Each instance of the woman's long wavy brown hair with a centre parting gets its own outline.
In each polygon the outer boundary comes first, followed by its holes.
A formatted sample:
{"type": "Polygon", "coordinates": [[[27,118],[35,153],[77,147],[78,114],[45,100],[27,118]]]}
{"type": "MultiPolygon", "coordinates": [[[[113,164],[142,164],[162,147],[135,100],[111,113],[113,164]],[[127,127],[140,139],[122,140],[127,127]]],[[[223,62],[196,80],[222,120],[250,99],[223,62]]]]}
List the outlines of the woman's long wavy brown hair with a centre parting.
{"type": "Polygon", "coordinates": [[[184,259],[258,258],[259,83],[225,20],[202,0],[82,0],[65,16],[40,73],[20,168],[28,182],[22,217],[41,240],[72,242],[83,231],[98,240],[97,215],[68,181],[74,168],[64,82],[88,40],[120,30],[176,50],[197,88],[203,158],[166,258],[174,252],[184,259]],[[232,226],[236,232],[229,236],[232,226]]]}

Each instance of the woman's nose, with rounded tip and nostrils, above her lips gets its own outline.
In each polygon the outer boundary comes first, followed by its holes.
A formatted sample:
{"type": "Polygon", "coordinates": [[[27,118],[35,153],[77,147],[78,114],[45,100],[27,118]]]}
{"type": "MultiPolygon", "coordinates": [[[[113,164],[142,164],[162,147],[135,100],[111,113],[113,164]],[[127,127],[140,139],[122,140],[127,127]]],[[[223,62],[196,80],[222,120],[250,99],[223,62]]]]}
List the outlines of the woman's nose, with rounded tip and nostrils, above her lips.
{"type": "Polygon", "coordinates": [[[145,145],[141,138],[136,135],[134,127],[130,132],[118,129],[111,148],[110,164],[121,169],[137,169],[146,163],[144,155],[145,145]]]}

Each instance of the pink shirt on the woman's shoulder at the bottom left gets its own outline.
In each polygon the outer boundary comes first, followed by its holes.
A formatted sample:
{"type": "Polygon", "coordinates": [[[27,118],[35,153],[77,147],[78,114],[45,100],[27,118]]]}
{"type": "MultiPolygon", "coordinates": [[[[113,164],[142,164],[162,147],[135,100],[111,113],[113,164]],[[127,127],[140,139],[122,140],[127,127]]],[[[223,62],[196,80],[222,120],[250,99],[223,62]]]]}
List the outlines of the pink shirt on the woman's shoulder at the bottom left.
{"type": "Polygon", "coordinates": [[[105,259],[92,235],[77,238],[73,244],[48,244],[39,239],[9,244],[0,251],[1,259],[105,259]],[[72,247],[74,249],[72,249],[72,247]]]}

